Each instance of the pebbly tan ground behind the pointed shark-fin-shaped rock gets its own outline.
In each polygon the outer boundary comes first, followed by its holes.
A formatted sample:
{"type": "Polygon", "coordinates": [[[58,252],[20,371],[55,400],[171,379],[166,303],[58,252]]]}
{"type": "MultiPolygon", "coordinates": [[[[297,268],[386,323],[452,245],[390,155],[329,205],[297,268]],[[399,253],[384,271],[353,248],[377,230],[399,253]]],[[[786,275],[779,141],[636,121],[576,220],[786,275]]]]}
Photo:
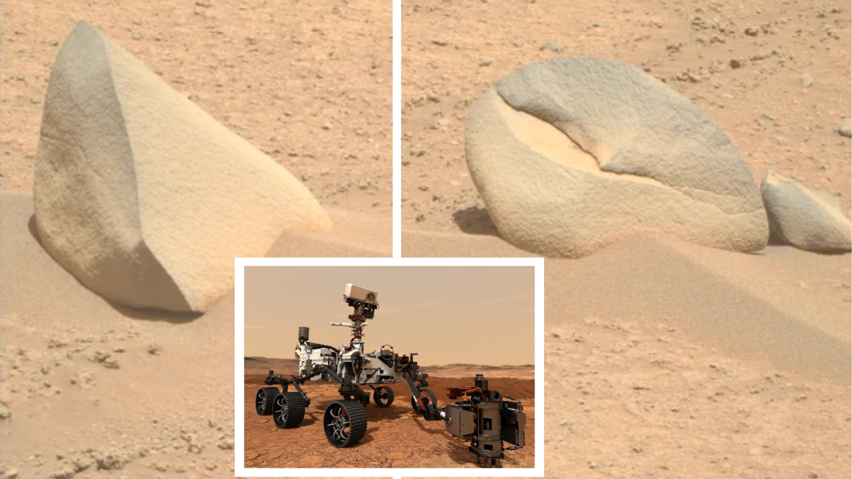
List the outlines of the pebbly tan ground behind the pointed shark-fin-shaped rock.
{"type": "Polygon", "coordinates": [[[50,68],[78,20],[354,216],[338,223],[387,231],[390,255],[389,4],[3,2],[3,191],[32,190],[50,68]]]}

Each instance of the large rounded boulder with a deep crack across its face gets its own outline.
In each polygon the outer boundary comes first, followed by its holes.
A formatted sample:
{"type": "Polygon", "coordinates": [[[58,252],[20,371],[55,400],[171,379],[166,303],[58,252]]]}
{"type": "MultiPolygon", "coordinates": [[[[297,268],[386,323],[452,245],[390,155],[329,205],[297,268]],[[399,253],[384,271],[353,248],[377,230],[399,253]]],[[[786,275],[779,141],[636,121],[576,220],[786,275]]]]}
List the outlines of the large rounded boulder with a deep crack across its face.
{"type": "Polygon", "coordinates": [[[633,66],[574,58],[522,67],[481,95],[468,166],[501,236],[580,257],[637,233],[763,248],[766,212],[728,137],[633,66]]]}

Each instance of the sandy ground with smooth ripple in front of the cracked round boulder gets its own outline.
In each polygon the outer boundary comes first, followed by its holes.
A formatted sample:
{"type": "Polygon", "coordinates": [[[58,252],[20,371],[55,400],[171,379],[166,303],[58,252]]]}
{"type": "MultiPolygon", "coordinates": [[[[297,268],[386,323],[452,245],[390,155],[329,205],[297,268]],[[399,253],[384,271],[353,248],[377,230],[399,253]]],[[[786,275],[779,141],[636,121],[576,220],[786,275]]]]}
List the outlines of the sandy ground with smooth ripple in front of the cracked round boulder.
{"type": "Polygon", "coordinates": [[[849,266],[653,237],[546,259],[546,476],[849,476],[849,266]]]}

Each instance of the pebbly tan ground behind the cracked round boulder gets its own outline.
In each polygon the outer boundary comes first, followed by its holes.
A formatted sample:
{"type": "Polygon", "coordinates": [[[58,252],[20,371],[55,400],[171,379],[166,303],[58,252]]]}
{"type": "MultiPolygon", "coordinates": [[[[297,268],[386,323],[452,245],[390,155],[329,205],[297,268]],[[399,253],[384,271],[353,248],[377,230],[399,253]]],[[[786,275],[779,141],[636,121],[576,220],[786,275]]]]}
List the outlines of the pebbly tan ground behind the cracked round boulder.
{"type": "Polygon", "coordinates": [[[403,230],[492,233],[465,163],[467,115],[509,72],[568,56],[643,68],[705,111],[756,179],[773,168],[838,195],[848,215],[850,140],[834,129],[850,114],[849,11],[837,0],[406,0],[403,230]],[[561,52],[541,48],[551,40],[561,52]]]}

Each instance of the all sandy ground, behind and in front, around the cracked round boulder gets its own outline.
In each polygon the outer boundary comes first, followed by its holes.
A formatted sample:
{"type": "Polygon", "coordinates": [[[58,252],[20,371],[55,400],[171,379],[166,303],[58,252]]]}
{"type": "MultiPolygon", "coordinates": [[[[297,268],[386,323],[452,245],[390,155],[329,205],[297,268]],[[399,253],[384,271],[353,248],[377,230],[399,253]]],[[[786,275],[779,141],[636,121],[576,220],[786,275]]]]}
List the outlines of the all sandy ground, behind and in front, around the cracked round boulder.
{"type": "MultiPolygon", "coordinates": [[[[637,66],[728,135],[756,188],[771,168],[849,217],[845,3],[421,0],[402,20],[405,256],[535,256],[500,237],[465,125],[501,78],[565,57],[637,66]]],[[[545,476],[849,475],[849,254],[640,235],[544,270],[545,476]]]]}

